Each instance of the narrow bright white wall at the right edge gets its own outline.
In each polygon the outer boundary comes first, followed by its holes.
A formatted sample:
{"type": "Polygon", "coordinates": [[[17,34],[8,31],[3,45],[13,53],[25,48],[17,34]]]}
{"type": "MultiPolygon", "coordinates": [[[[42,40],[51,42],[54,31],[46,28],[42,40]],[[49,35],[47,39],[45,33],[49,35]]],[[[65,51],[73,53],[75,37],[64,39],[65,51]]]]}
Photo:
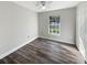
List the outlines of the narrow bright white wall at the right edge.
{"type": "Polygon", "coordinates": [[[76,44],[84,58],[87,61],[87,2],[77,6],[76,44]]]}

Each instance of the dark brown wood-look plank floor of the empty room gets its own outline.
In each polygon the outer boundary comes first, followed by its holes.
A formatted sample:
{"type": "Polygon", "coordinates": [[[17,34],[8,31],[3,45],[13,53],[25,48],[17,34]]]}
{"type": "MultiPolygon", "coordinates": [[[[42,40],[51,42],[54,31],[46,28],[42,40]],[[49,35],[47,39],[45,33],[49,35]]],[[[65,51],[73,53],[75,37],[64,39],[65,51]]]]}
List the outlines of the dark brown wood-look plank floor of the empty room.
{"type": "Polygon", "coordinates": [[[0,59],[1,64],[84,64],[76,47],[46,39],[36,39],[0,59]]]}

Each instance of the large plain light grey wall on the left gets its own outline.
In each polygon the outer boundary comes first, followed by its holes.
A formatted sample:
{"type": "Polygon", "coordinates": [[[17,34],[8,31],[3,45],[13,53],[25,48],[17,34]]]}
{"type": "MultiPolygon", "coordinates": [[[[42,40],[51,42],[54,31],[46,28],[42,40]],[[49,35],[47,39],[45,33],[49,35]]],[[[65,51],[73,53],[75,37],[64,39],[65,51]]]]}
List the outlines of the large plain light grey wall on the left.
{"type": "Polygon", "coordinates": [[[37,13],[13,2],[0,2],[0,58],[35,37],[37,13]]]}

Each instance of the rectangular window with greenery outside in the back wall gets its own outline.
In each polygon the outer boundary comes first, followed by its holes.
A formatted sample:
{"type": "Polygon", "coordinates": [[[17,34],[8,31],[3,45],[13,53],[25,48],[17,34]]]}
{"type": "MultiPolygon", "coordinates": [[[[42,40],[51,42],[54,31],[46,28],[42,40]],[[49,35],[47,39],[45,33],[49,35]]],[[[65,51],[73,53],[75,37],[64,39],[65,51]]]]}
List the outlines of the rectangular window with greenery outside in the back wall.
{"type": "Polygon", "coordinates": [[[59,17],[50,17],[50,34],[59,35],[61,34],[61,23],[59,17]]]}

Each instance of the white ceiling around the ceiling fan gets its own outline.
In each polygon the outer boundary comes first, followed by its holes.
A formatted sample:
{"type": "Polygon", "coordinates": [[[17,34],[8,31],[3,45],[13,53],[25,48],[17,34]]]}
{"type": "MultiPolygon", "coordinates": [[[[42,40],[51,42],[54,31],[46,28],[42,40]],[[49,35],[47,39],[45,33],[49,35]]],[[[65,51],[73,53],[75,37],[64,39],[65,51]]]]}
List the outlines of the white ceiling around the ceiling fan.
{"type": "Polygon", "coordinates": [[[24,7],[26,9],[30,9],[34,12],[45,12],[45,11],[54,11],[54,10],[61,10],[61,9],[67,9],[77,7],[79,1],[53,1],[52,4],[50,4],[48,8],[42,10],[37,8],[35,4],[36,1],[13,1],[13,3],[19,4],[21,7],[24,7]]]}

